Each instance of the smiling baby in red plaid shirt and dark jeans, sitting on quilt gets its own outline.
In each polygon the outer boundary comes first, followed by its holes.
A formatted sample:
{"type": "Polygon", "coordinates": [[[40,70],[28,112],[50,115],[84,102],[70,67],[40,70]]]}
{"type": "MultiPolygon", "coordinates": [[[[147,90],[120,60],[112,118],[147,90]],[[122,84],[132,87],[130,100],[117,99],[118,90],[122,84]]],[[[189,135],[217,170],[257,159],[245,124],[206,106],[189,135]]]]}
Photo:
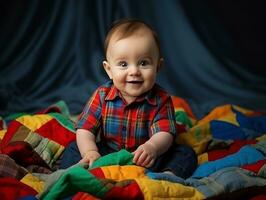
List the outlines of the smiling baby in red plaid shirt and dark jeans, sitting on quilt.
{"type": "Polygon", "coordinates": [[[136,165],[190,176],[196,155],[174,142],[171,97],[155,83],[163,63],[155,31],[141,20],[117,21],[106,36],[105,56],[110,81],[94,92],[81,113],[76,142],[64,152],[62,168],[76,162],[91,166],[103,155],[126,149],[136,165]]]}

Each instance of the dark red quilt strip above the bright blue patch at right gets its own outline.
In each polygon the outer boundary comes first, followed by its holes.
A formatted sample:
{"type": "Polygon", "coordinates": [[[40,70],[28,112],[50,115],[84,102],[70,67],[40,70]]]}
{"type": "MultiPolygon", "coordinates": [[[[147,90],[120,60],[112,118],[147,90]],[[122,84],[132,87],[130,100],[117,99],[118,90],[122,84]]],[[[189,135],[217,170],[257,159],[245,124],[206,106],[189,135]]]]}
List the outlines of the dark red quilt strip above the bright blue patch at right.
{"type": "Polygon", "coordinates": [[[245,145],[249,144],[256,144],[256,140],[236,140],[234,141],[229,149],[217,149],[217,150],[212,150],[208,152],[208,160],[213,161],[217,159],[221,159],[225,156],[234,154],[239,151],[239,149],[245,145]]]}

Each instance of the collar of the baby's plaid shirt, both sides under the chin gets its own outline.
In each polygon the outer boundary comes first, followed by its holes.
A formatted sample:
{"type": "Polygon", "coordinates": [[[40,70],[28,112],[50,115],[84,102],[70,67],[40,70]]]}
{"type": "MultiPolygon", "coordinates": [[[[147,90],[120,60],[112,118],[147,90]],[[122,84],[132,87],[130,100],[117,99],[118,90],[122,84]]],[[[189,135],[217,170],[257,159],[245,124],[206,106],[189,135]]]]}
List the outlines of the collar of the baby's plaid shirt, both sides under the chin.
{"type": "MultiPolygon", "coordinates": [[[[155,95],[155,90],[156,90],[156,85],[154,85],[150,91],[146,92],[145,94],[141,95],[140,97],[137,97],[135,102],[141,102],[144,99],[146,99],[151,105],[154,105],[154,106],[157,105],[157,98],[155,95]]],[[[112,85],[107,96],[105,97],[105,100],[112,101],[117,97],[122,99],[122,96],[121,96],[119,90],[114,85],[112,85]]]]}

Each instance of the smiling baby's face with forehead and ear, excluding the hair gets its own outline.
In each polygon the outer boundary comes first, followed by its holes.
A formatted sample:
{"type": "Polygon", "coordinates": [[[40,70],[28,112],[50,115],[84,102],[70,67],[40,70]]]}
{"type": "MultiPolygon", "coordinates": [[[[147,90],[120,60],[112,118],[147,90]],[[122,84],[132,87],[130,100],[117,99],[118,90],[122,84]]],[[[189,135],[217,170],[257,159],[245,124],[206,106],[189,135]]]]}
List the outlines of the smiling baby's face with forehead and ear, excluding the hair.
{"type": "Polygon", "coordinates": [[[107,49],[104,68],[127,103],[149,91],[156,80],[159,51],[150,31],[118,40],[114,35],[107,49]]]}

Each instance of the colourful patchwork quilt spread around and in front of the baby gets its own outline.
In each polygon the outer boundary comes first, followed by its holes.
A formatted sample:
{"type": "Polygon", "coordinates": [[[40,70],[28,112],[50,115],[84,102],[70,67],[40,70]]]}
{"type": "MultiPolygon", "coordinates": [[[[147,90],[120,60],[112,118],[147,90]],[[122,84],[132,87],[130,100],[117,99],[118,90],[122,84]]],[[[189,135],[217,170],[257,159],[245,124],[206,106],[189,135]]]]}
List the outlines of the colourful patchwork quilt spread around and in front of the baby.
{"type": "Polygon", "coordinates": [[[223,105],[197,119],[172,97],[179,135],[198,167],[187,179],[136,166],[126,150],[91,168],[59,169],[75,140],[75,119],[60,101],[36,113],[0,117],[1,199],[266,199],[266,113],[223,105]]]}

